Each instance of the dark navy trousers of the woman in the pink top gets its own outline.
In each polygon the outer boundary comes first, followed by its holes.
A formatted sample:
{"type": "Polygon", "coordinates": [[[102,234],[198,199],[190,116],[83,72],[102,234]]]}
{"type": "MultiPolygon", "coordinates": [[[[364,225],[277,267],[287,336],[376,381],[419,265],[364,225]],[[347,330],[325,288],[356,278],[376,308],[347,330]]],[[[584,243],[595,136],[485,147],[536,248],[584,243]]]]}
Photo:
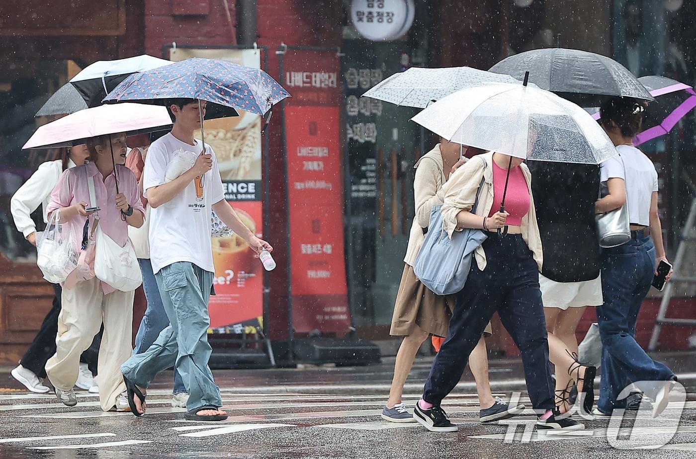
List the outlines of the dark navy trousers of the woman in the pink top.
{"type": "Polygon", "coordinates": [[[440,405],[452,392],[486,324],[498,311],[500,321],[522,353],[532,408],[551,410],[554,385],[537,263],[521,234],[488,233],[483,248],[488,261],[486,269],[481,271],[472,261],[464,289],[457,293],[447,339],[425,383],[423,399],[440,405]]]}

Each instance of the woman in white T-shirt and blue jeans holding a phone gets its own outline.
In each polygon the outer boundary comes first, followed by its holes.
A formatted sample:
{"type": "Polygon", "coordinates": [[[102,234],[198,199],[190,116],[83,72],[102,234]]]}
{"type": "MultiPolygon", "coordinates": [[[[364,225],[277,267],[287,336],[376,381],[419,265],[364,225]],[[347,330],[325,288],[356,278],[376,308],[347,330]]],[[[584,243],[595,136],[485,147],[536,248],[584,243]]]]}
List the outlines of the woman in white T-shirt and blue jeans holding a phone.
{"type": "MultiPolygon", "coordinates": [[[[635,323],[647,295],[657,264],[667,261],[658,215],[658,176],[653,163],[632,138],[642,124],[642,102],[628,97],[613,97],[600,109],[600,124],[616,145],[619,156],[600,166],[600,180],[608,195],[595,204],[603,214],[628,204],[631,241],[602,253],[602,296],[597,307],[599,335],[603,352],[601,388],[594,414],[608,416],[626,408],[622,392],[635,385],[654,400],[653,417],[669,401],[677,379],[674,372],[653,360],[635,341],[635,323]]],[[[672,276],[667,275],[667,281],[672,276]]]]}

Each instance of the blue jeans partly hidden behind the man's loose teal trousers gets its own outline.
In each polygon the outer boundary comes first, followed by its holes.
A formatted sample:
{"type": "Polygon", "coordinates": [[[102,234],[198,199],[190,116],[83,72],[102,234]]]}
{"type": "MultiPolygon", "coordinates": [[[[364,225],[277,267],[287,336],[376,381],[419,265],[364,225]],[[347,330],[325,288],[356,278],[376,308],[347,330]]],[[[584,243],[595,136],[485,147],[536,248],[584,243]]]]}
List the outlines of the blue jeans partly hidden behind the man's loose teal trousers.
{"type": "MultiPolygon", "coordinates": [[[[138,263],[143,272],[143,290],[145,290],[145,298],[148,299],[148,309],[145,309],[145,315],[138,328],[138,334],[135,337],[134,354],[140,354],[148,350],[152,343],[155,342],[159,333],[169,325],[169,318],[164,311],[162,297],[159,295],[159,287],[155,274],[152,273],[152,264],[148,258],[139,258],[138,263]]],[[[174,369],[174,394],[186,392],[184,381],[181,379],[179,372],[174,369]]]]}

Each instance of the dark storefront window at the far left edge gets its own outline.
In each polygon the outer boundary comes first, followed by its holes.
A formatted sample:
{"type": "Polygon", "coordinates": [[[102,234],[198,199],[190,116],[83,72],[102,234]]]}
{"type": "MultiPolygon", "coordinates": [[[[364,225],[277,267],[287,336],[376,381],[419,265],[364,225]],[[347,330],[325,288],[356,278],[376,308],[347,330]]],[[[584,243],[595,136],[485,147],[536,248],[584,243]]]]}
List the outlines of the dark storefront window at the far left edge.
{"type": "MultiPolygon", "coordinates": [[[[35,248],[17,231],[10,199],[38,165],[55,150],[22,151],[36,127],[49,121],[34,118],[46,100],[68,81],[71,61],[10,63],[0,74],[0,253],[15,262],[33,262],[35,248]]],[[[32,214],[42,229],[39,208],[32,214]]]]}

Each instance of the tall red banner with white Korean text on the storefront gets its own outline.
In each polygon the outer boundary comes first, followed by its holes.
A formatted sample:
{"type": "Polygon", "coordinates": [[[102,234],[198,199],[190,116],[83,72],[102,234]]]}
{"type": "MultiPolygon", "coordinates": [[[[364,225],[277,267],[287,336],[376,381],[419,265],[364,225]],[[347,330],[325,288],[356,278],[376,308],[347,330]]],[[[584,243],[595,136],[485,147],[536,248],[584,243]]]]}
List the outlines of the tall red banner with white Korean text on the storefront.
{"type": "Polygon", "coordinates": [[[291,49],[284,64],[292,325],[346,332],[340,63],[333,52],[291,49]]]}

